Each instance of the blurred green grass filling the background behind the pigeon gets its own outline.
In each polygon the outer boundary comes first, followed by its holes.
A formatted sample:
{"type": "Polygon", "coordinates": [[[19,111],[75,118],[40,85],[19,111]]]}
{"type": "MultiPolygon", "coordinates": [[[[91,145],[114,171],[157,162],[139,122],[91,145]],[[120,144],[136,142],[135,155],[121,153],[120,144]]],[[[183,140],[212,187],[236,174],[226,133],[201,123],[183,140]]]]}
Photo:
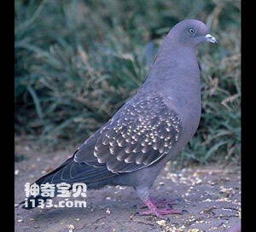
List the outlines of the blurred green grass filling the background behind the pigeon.
{"type": "Polygon", "coordinates": [[[240,164],[240,1],[15,0],[15,141],[79,143],[143,84],[166,33],[195,18],[218,45],[198,52],[202,116],[182,162],[240,164]]]}

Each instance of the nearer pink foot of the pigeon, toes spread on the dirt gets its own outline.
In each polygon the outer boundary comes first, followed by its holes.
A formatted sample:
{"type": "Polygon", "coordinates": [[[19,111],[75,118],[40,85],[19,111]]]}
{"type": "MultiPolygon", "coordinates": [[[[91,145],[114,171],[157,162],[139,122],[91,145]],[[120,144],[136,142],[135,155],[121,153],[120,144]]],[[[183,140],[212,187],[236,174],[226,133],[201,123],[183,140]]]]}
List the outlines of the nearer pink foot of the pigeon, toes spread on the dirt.
{"type": "Polygon", "coordinates": [[[173,209],[158,209],[155,206],[154,201],[150,197],[143,199],[143,202],[148,206],[148,210],[144,212],[139,212],[140,215],[154,214],[156,217],[163,218],[167,214],[182,214],[183,210],[173,210],[173,209]]]}

